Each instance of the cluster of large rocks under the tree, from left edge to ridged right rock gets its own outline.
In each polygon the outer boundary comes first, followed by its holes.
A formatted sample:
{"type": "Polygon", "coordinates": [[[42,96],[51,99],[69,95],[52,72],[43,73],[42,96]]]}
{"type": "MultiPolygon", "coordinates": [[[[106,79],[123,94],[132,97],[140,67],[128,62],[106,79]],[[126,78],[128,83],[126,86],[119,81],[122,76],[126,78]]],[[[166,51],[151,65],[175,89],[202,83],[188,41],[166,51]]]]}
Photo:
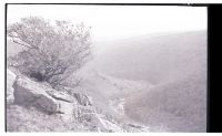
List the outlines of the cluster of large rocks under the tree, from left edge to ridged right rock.
{"type": "Polygon", "coordinates": [[[78,118],[82,113],[94,113],[91,108],[91,98],[81,93],[56,91],[50,86],[37,83],[28,77],[18,76],[8,71],[8,93],[14,97],[13,103],[26,107],[36,107],[47,114],[61,114],[63,121],[70,122],[78,118]],[[14,76],[13,76],[14,75],[14,76]],[[75,117],[73,117],[73,115],[75,117]]]}

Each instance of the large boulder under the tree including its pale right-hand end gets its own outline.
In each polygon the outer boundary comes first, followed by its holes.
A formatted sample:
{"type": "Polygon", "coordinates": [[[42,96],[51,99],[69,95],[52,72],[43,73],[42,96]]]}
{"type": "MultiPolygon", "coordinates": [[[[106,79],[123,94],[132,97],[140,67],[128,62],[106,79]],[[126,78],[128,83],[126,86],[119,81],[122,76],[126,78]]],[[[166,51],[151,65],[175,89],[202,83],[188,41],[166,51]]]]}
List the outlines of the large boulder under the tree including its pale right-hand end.
{"type": "Polygon", "coordinates": [[[61,114],[65,122],[71,121],[77,102],[64,92],[57,92],[27,77],[18,77],[13,88],[14,104],[33,106],[47,114],[61,114]]]}

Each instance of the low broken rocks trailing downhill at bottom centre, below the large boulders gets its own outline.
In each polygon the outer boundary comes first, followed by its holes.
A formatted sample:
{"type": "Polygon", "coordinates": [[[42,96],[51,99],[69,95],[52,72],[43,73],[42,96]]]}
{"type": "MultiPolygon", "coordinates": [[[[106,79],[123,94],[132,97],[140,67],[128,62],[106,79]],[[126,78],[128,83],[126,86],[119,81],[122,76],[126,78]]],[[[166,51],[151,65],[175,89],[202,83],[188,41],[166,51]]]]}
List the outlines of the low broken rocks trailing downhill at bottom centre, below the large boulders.
{"type": "Polygon", "coordinates": [[[144,133],[150,128],[138,124],[124,124],[104,114],[97,113],[93,106],[79,106],[75,108],[75,118],[91,132],[109,133],[144,133]]]}

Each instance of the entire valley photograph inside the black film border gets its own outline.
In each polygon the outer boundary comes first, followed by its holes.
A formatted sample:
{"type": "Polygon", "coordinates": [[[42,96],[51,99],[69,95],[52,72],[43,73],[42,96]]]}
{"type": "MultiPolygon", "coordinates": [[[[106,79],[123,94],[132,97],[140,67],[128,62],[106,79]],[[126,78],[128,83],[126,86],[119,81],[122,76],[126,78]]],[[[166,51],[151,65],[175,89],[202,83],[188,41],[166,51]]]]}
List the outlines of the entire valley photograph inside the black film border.
{"type": "Polygon", "coordinates": [[[206,132],[206,8],[9,4],[7,22],[8,132],[206,132]]]}

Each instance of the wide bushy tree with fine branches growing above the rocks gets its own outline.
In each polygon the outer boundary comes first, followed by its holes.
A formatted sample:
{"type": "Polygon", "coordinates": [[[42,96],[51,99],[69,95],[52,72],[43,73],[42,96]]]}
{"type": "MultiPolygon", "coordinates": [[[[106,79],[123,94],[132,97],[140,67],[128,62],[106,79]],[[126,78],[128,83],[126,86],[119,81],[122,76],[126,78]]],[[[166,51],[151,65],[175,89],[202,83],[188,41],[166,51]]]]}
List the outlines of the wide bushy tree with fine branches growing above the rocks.
{"type": "Polygon", "coordinates": [[[13,59],[28,76],[53,87],[79,70],[91,56],[90,28],[83,23],[56,21],[52,25],[39,17],[22,18],[10,24],[7,34],[24,50],[13,59]]]}

